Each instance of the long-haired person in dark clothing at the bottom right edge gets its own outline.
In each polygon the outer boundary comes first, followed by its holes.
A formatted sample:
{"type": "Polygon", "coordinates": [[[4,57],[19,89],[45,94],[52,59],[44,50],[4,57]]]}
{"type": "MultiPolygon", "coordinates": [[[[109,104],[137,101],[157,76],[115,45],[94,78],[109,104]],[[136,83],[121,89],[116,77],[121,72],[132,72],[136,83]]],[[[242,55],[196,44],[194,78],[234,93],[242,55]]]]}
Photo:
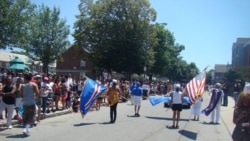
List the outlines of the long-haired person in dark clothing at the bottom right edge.
{"type": "Polygon", "coordinates": [[[233,113],[235,128],[233,141],[249,141],[250,139],[250,93],[241,92],[233,113]]]}

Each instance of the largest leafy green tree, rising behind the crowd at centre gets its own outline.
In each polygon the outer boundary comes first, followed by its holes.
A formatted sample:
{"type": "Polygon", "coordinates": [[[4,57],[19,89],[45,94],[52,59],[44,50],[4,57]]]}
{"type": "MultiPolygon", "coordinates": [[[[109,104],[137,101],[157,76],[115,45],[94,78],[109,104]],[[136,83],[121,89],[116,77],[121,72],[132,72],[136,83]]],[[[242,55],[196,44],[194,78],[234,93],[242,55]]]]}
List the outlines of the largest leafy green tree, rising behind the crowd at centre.
{"type": "Polygon", "coordinates": [[[74,37],[96,66],[140,74],[154,63],[156,12],[148,0],[82,0],[79,10],[74,37]]]}

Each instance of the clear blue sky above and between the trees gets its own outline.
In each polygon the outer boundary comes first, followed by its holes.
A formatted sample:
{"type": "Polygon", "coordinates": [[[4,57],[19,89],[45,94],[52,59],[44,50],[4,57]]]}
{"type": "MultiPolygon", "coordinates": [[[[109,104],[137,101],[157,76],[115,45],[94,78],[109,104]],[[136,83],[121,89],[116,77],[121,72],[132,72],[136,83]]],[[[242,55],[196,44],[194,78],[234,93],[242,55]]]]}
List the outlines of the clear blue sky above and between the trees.
{"type": "MultiPolygon", "coordinates": [[[[181,56],[202,70],[231,64],[232,44],[250,38],[250,0],[149,0],[157,11],[156,22],[167,23],[176,43],[185,46],[181,56]]],[[[73,33],[80,0],[31,0],[59,7],[73,33]]],[[[72,42],[73,37],[69,40],[72,42]]]]}

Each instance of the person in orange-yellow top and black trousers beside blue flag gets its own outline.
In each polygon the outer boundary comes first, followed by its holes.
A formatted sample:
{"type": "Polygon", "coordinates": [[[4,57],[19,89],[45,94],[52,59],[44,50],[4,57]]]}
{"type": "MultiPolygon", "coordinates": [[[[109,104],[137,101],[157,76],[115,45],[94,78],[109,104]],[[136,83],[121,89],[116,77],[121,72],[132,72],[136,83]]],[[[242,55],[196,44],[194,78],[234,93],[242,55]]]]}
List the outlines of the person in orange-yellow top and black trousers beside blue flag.
{"type": "Polygon", "coordinates": [[[117,117],[117,104],[119,102],[120,89],[117,87],[117,81],[112,82],[108,89],[108,103],[110,106],[110,123],[115,123],[117,117]]]}

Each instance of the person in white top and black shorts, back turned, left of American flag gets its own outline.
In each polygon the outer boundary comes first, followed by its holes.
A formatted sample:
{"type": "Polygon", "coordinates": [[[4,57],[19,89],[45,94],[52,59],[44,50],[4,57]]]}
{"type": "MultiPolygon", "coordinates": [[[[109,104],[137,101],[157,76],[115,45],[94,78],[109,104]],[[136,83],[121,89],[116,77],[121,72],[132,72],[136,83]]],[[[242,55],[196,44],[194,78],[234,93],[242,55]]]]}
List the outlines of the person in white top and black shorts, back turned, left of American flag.
{"type": "Polygon", "coordinates": [[[183,93],[181,92],[180,84],[175,85],[175,91],[170,94],[170,105],[173,111],[173,125],[172,128],[179,128],[180,113],[182,111],[183,93]]]}

